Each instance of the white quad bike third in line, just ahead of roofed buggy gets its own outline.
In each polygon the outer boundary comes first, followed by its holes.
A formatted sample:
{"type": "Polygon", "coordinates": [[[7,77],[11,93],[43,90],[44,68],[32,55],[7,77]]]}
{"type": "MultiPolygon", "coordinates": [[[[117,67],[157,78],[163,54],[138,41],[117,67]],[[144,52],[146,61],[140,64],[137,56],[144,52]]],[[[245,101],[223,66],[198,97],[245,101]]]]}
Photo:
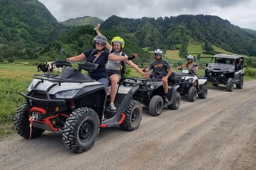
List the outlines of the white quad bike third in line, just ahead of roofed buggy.
{"type": "MultiPolygon", "coordinates": [[[[179,66],[181,66],[180,63],[178,63],[179,66]]],[[[194,64],[193,67],[197,67],[197,64],[194,64]]],[[[182,70],[182,68],[181,68],[182,70]]],[[[176,73],[176,72],[173,72],[176,73]]],[[[172,73],[172,74],[173,74],[172,73]]],[[[182,70],[182,80],[179,84],[179,88],[177,91],[180,93],[181,96],[188,96],[188,100],[191,102],[194,102],[196,100],[196,95],[198,95],[199,98],[205,99],[207,97],[207,87],[206,77],[197,77],[195,71],[188,71],[188,70],[182,70]],[[199,83],[199,90],[198,89],[198,83],[199,83]]],[[[176,83],[170,83],[171,86],[176,85],[176,83]]]]}

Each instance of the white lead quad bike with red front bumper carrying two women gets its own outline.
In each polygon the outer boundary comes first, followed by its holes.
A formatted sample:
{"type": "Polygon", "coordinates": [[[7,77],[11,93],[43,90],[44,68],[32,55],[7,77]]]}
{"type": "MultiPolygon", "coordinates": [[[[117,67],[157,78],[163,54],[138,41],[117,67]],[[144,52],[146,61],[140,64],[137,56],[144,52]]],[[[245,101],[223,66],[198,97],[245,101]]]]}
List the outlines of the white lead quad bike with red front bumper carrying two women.
{"type": "MultiPolygon", "coordinates": [[[[92,50],[91,56],[96,53],[96,49],[92,50]]],[[[93,71],[97,64],[78,64],[75,69],[70,67],[71,63],[57,60],[56,65],[69,67],[65,67],[61,75],[33,75],[28,94],[21,93],[26,102],[17,109],[14,120],[20,136],[30,139],[42,135],[45,130],[62,130],[65,147],[81,153],[93,146],[99,128],[120,126],[133,131],[139,127],[142,106],[132,99],[139,89],[137,80],[123,80],[116,96],[118,108],[111,111],[107,109],[109,94],[106,87],[80,72],[82,69],[93,71]],[[113,117],[104,117],[109,113],[113,117]]]]}

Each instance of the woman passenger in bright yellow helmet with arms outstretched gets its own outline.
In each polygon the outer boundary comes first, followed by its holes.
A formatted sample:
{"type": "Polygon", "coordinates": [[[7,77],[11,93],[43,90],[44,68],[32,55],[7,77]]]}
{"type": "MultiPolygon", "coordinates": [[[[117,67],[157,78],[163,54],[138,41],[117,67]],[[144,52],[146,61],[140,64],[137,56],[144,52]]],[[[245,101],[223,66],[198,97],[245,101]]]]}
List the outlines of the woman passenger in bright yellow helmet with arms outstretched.
{"type": "MultiPolygon", "coordinates": [[[[99,32],[99,25],[96,26],[96,32],[98,35],[102,35],[99,32]]],[[[122,55],[122,49],[124,48],[124,40],[121,37],[114,37],[111,41],[111,45],[107,43],[106,48],[109,50],[110,53],[121,56],[122,55]],[[111,46],[112,45],[112,46],[111,46]]],[[[137,54],[134,54],[137,56],[137,54]]],[[[124,57],[127,57],[126,55],[124,57]]],[[[140,74],[143,75],[146,79],[149,79],[148,73],[143,72],[136,64],[134,64],[132,61],[125,61],[127,64],[129,64],[131,67],[133,67],[136,71],[138,71],[140,74]]],[[[106,69],[108,72],[108,77],[111,82],[111,92],[110,92],[110,104],[109,108],[111,110],[116,110],[116,107],[114,106],[114,100],[116,98],[116,92],[117,92],[117,83],[121,80],[121,70],[120,70],[121,61],[110,61],[108,60],[106,69]]]]}

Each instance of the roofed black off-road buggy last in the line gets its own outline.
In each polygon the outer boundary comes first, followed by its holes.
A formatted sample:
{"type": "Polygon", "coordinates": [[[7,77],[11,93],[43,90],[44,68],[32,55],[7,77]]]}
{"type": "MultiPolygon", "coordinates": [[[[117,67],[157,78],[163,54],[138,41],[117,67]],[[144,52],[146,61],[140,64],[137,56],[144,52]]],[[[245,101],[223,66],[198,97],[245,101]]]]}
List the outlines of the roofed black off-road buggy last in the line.
{"type": "Polygon", "coordinates": [[[233,91],[234,84],[236,88],[241,89],[243,88],[243,77],[245,75],[243,61],[244,57],[236,54],[214,55],[210,63],[206,64],[205,77],[214,86],[218,86],[219,84],[227,86],[227,91],[233,91]],[[230,64],[231,61],[234,61],[234,63],[230,64]],[[238,64],[239,61],[240,64],[238,64]]]}

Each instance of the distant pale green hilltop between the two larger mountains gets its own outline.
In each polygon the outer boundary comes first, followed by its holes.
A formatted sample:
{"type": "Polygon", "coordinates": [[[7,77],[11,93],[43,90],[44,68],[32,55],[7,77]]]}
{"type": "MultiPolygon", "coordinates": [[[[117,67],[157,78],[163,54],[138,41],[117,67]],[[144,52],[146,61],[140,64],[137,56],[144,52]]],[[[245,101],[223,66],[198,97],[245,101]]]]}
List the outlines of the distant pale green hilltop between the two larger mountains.
{"type": "Polygon", "coordinates": [[[97,17],[84,16],[82,18],[68,19],[67,21],[60,22],[65,26],[83,26],[83,25],[97,25],[104,22],[102,19],[97,17]]]}

